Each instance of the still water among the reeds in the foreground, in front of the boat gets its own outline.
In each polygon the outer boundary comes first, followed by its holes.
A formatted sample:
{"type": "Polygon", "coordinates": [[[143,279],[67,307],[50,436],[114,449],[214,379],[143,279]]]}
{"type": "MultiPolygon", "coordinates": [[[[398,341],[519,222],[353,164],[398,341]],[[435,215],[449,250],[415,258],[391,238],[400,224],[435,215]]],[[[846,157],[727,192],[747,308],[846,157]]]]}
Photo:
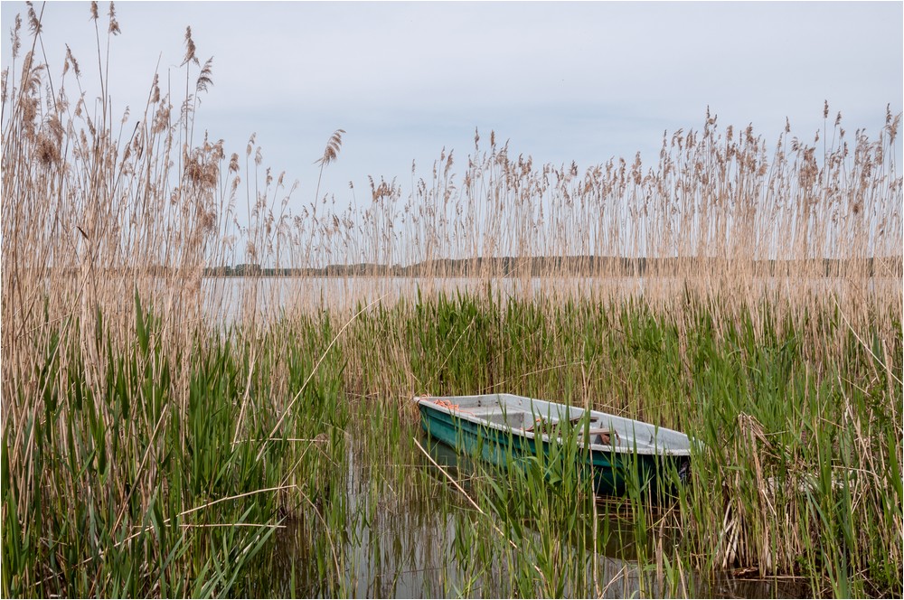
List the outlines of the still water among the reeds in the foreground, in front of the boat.
{"type": "MultiPolygon", "coordinates": [[[[315,511],[303,505],[300,516],[287,520],[286,529],[278,530],[277,568],[272,574],[274,589],[268,595],[293,592],[308,597],[511,595],[511,577],[517,575],[504,560],[487,568],[476,568],[473,561],[462,564],[457,560],[459,555],[450,549],[462,543],[458,538],[469,521],[480,517],[463,494],[421,453],[413,439],[428,448],[433,460],[444,465],[466,491],[471,489],[470,478],[487,476],[487,472],[475,469],[465,457],[428,438],[419,424],[401,425],[398,439],[375,442],[373,432],[356,435],[359,437],[348,436],[344,490],[333,495],[329,501],[332,507],[320,505],[319,509],[325,512],[341,505],[344,530],[326,530],[315,511]],[[333,552],[343,557],[341,583],[329,581],[323,576],[323,567],[320,570],[317,567],[318,560],[331,561],[333,552]]],[[[638,545],[643,545],[645,556],[651,557],[657,544],[670,548],[681,532],[651,527],[643,539],[638,539],[635,522],[625,511],[614,514],[603,507],[598,509],[597,518],[598,531],[606,532],[606,542],[599,544],[596,556],[591,548],[583,550],[588,573],[595,569],[598,595],[606,598],[670,595],[668,589],[657,585],[654,574],[638,567],[638,545]]],[[[541,536],[539,531],[532,534],[541,536]]],[[[466,540],[465,543],[476,542],[466,540]]],[[[332,564],[328,564],[327,570],[332,564]]],[[[686,579],[687,592],[680,595],[717,598],[811,595],[802,580],[702,577],[692,573],[686,579]]],[[[566,583],[565,595],[583,596],[586,590],[572,590],[566,583]]]]}

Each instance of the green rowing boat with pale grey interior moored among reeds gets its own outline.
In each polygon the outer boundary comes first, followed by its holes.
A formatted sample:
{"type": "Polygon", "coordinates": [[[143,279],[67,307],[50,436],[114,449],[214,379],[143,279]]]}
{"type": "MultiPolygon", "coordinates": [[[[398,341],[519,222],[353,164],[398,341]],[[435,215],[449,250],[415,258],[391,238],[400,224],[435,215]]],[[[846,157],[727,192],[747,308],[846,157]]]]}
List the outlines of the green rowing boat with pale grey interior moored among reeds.
{"type": "Polygon", "coordinates": [[[643,421],[513,394],[413,399],[429,436],[499,466],[570,440],[598,494],[624,494],[632,481],[663,489],[690,472],[690,438],[643,421]]]}

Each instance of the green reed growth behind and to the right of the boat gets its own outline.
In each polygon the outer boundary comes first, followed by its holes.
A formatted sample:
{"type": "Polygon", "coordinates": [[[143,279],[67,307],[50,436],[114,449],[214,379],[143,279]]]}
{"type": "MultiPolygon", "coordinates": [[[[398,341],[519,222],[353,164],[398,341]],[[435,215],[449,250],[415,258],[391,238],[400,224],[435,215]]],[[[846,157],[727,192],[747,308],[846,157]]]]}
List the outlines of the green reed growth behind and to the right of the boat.
{"type": "MultiPolygon", "coordinates": [[[[890,567],[901,561],[899,339],[871,335],[874,348],[864,348],[837,312],[807,315],[807,327],[846,340],[843,354],[817,361],[768,305],[737,323],[720,323],[705,305],[692,323],[643,305],[537,306],[509,301],[503,310],[461,296],[396,306],[398,329],[413,321],[420,335],[410,377],[441,395],[507,380],[509,391],[589,402],[700,440],[706,450],[694,456],[692,484],[679,488],[668,513],[668,526],[684,532],[679,554],[665,558],[673,571],[756,567],[764,576],[808,578],[815,590],[899,589],[890,567]],[[506,342],[509,332],[517,334],[506,342]],[[523,352],[534,342],[535,352],[523,352]],[[564,366],[545,369],[550,363],[564,366]]],[[[344,352],[352,355],[353,344],[344,352]]],[[[375,355],[384,354],[399,355],[375,355]]],[[[530,496],[523,482],[504,490],[530,496]]]]}

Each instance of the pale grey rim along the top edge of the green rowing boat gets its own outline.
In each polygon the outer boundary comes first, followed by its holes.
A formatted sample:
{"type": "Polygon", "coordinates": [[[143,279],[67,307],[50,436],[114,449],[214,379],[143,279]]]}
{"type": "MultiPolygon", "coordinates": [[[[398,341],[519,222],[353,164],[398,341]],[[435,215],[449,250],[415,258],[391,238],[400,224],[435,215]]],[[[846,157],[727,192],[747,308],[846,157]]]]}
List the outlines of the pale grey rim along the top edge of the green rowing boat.
{"type": "MultiPolygon", "coordinates": [[[[456,418],[466,420],[466,421],[473,423],[480,427],[488,427],[488,428],[494,429],[496,431],[500,431],[502,433],[510,433],[513,436],[520,436],[520,437],[523,437],[526,439],[534,439],[534,440],[537,439],[535,432],[528,431],[527,429],[525,429],[523,427],[511,427],[508,425],[501,425],[499,423],[494,423],[493,421],[491,421],[487,418],[482,418],[478,415],[474,415],[474,414],[465,412],[466,409],[451,410],[447,407],[444,407],[444,406],[436,403],[436,400],[444,400],[445,399],[445,400],[454,402],[456,400],[456,398],[480,398],[480,397],[487,398],[487,397],[491,397],[491,396],[495,396],[497,398],[497,401],[499,401],[499,399],[500,399],[499,397],[502,397],[502,396],[510,396],[512,398],[520,398],[521,400],[529,401],[531,404],[531,407],[533,407],[534,402],[544,402],[550,406],[561,407],[561,408],[565,408],[566,410],[570,410],[571,408],[578,408],[579,410],[582,410],[585,413],[589,413],[589,416],[591,419],[593,417],[617,418],[617,419],[626,421],[626,422],[634,424],[634,425],[640,425],[643,427],[652,428],[653,431],[656,432],[656,434],[658,434],[658,432],[667,432],[670,434],[674,434],[676,436],[683,436],[685,439],[688,440],[688,442],[687,442],[688,447],[682,448],[682,449],[666,448],[666,447],[661,447],[660,445],[655,444],[657,436],[653,437],[654,444],[652,444],[652,445],[638,445],[636,442],[636,439],[634,439],[634,438],[632,438],[632,440],[631,440],[632,443],[630,445],[588,444],[586,440],[580,440],[578,442],[578,447],[588,448],[591,452],[599,452],[599,453],[615,454],[615,455],[645,455],[645,456],[662,456],[662,457],[672,457],[672,456],[682,457],[682,456],[690,456],[691,455],[692,439],[689,436],[687,436],[686,434],[683,434],[680,431],[675,431],[674,429],[669,429],[668,427],[658,427],[658,426],[654,426],[650,423],[645,423],[644,421],[638,421],[636,419],[627,418],[627,417],[618,417],[617,415],[612,415],[611,413],[603,412],[601,410],[587,410],[585,408],[570,407],[570,405],[561,404],[559,402],[551,402],[549,400],[541,400],[539,398],[530,398],[527,396],[518,396],[516,394],[502,394],[502,393],[476,394],[473,396],[427,396],[427,395],[425,395],[425,396],[415,396],[414,398],[412,398],[412,400],[419,407],[426,406],[426,407],[430,408],[431,410],[436,410],[439,413],[447,414],[450,417],[456,417],[456,418]]],[[[501,403],[500,403],[500,406],[502,406],[501,403]]],[[[527,411],[523,411],[523,412],[527,412],[527,411]]],[[[561,441],[561,437],[558,437],[557,439],[559,439],[561,441]]],[[[550,442],[551,437],[549,436],[549,434],[544,433],[541,435],[541,440],[545,441],[545,442],[550,442]]]]}

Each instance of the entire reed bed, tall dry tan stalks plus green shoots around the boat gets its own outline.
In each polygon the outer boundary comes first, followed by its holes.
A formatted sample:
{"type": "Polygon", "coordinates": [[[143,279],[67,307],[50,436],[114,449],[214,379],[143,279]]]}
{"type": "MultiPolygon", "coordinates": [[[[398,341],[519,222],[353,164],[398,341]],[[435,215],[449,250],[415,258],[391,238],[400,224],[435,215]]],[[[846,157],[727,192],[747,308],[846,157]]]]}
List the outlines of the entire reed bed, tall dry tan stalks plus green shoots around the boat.
{"type": "MultiPolygon", "coordinates": [[[[488,390],[702,440],[667,513],[683,536],[640,558],[658,592],[752,569],[901,593],[900,115],[850,136],[826,103],[814,139],[769,144],[708,112],[654,164],[584,169],[476,132],[346,207],[354,189],[319,182],[294,198],[254,136],[240,155],[195,131],[214,75],[191,29],[184,89],[152,74],[114,115],[115,7],[89,15],[97,56],[60,67],[29,5],[3,73],[5,595],[266,595],[255,566],[289,517],[325,526],[316,593],[349,594],[353,408],[412,427],[415,393],[488,390]]],[[[549,546],[500,508],[513,487],[482,493],[533,548],[494,589],[605,591],[580,552],[556,562],[577,524],[549,546]]],[[[531,493],[556,522],[583,502],[531,493]]]]}

